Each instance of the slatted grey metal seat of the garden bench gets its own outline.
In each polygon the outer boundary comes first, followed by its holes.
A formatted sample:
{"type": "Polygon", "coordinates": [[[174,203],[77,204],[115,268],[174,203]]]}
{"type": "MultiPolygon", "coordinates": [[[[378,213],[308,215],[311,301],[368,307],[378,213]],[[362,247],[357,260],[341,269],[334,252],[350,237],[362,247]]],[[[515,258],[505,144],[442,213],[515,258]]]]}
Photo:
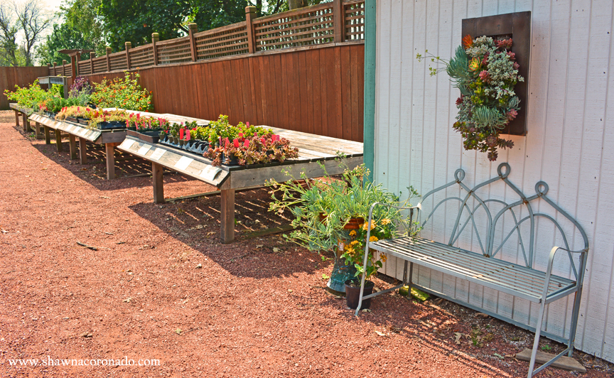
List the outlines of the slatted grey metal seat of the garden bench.
{"type": "MultiPolygon", "coordinates": [[[[370,247],[533,302],[540,301],[546,281],[544,272],[420,237],[380,240],[370,243],[370,247]]],[[[552,275],[548,297],[575,285],[575,281],[552,275]]]]}

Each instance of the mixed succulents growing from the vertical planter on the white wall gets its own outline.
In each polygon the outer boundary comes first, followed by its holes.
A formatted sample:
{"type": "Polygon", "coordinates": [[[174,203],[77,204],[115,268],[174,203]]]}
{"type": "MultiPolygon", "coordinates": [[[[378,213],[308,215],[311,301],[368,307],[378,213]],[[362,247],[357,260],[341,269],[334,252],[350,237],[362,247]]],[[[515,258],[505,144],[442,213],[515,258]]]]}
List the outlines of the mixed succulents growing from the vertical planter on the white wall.
{"type": "MultiPolygon", "coordinates": [[[[497,148],[512,148],[514,142],[502,139],[500,132],[518,115],[520,100],[514,92],[519,65],[511,51],[512,38],[493,40],[467,35],[450,60],[429,54],[416,55],[421,61],[443,63],[460,90],[456,99],[458,115],[453,129],[463,135],[465,150],[488,152],[488,160],[497,160],[497,148]]],[[[441,69],[429,67],[431,76],[441,69]]]]}

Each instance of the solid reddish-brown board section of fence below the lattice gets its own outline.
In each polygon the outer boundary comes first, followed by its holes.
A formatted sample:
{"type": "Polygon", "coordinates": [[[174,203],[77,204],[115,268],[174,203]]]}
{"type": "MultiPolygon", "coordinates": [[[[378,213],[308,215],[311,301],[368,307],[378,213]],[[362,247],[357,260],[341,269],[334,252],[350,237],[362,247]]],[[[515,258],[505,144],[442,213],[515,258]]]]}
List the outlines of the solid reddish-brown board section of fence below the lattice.
{"type": "MultiPolygon", "coordinates": [[[[294,48],[139,70],[157,113],[249,121],[362,141],[362,43],[294,48]]],[[[124,73],[86,75],[90,82],[124,73]]]]}

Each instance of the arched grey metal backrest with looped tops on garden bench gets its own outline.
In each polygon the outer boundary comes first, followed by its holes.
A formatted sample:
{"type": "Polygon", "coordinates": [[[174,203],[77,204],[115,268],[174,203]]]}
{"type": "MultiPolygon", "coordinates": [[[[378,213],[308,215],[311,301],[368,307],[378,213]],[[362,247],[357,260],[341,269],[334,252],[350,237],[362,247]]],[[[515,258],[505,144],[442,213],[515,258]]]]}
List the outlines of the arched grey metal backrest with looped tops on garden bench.
{"type": "MultiPolygon", "coordinates": [[[[565,249],[571,249],[569,244],[569,238],[566,236],[563,227],[559,224],[555,217],[552,215],[546,214],[545,212],[535,212],[534,207],[532,206],[532,202],[537,202],[538,200],[544,200],[547,202],[556,212],[560,215],[564,216],[567,220],[569,220],[576,229],[580,232],[584,242],[584,251],[588,252],[588,237],[586,237],[586,232],[581,227],[581,225],[571,217],[567,212],[565,212],[559,205],[557,205],[553,200],[548,198],[546,193],[548,193],[548,184],[544,183],[544,181],[539,181],[535,184],[535,194],[531,196],[524,195],[516,185],[508,180],[507,176],[510,175],[510,165],[508,163],[501,163],[497,167],[498,176],[490,178],[489,180],[484,181],[478,185],[473,186],[473,188],[469,188],[465,183],[463,183],[463,179],[465,178],[465,171],[459,168],[454,173],[454,180],[447,183],[446,185],[442,185],[439,188],[435,188],[431,190],[429,193],[426,193],[420,201],[419,207],[423,209],[423,204],[426,200],[429,200],[432,196],[432,200],[435,200],[435,193],[440,192],[441,190],[446,190],[453,185],[460,186],[460,195],[444,198],[443,200],[439,200],[439,202],[433,202],[433,208],[431,212],[428,214],[426,219],[421,222],[421,225],[424,227],[429,220],[432,219],[434,212],[443,204],[448,203],[448,201],[456,201],[458,202],[458,213],[450,214],[449,216],[456,217],[456,221],[453,223],[453,229],[451,232],[451,237],[448,240],[448,245],[453,245],[458,241],[460,234],[465,230],[473,229],[475,232],[476,239],[478,240],[478,244],[482,250],[482,253],[486,257],[494,257],[498,252],[502,250],[502,247],[508,242],[513,234],[517,235],[517,241],[519,242],[520,250],[522,251],[522,255],[524,257],[524,265],[528,268],[533,268],[534,261],[534,245],[535,245],[535,237],[536,237],[536,218],[545,218],[554,223],[555,228],[560,232],[563,244],[558,247],[563,247],[565,249]],[[511,188],[517,195],[518,200],[512,203],[507,203],[503,200],[497,199],[483,199],[480,198],[480,195],[476,193],[480,188],[485,187],[486,185],[490,185],[491,183],[495,183],[499,180],[502,180],[507,187],[511,188]],[[497,209],[492,210],[489,208],[489,205],[496,205],[497,209]],[[520,208],[526,208],[528,215],[525,217],[519,218],[517,213],[520,208]],[[481,213],[480,220],[476,221],[476,214],[481,213]],[[503,230],[502,242],[499,244],[495,244],[495,229],[497,227],[497,222],[502,220],[503,215],[506,213],[512,215],[513,224],[512,227],[505,227],[503,230]],[[485,221],[485,227],[478,227],[478,224],[483,223],[485,221]],[[521,225],[529,222],[529,240],[528,244],[526,234],[525,240],[523,241],[521,234],[521,225]],[[482,232],[480,232],[482,230],[482,232]],[[526,245],[525,245],[526,244],[526,245]]],[[[444,206],[445,207],[445,206],[444,206]]],[[[491,206],[492,207],[492,206],[491,206]]],[[[424,210],[423,210],[424,211],[424,210]]],[[[423,214],[423,215],[426,215],[423,214]]],[[[509,217],[508,217],[509,218],[509,217]]],[[[554,247],[554,246],[552,246],[554,247]]],[[[569,259],[571,261],[571,266],[573,267],[573,273],[577,278],[576,265],[573,263],[573,259],[571,259],[571,253],[569,253],[569,259]]]]}

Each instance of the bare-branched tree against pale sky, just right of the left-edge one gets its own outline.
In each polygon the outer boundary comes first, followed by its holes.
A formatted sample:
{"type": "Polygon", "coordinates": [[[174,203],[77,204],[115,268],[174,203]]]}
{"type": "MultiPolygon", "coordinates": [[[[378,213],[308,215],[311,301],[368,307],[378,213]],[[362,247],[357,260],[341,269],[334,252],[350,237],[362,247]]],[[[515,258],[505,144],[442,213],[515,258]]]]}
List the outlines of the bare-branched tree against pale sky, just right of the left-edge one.
{"type": "Polygon", "coordinates": [[[50,25],[52,18],[45,15],[40,0],[26,0],[22,4],[14,3],[17,23],[23,32],[23,53],[26,65],[32,65],[34,45],[41,39],[41,33],[50,25]]]}

